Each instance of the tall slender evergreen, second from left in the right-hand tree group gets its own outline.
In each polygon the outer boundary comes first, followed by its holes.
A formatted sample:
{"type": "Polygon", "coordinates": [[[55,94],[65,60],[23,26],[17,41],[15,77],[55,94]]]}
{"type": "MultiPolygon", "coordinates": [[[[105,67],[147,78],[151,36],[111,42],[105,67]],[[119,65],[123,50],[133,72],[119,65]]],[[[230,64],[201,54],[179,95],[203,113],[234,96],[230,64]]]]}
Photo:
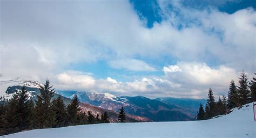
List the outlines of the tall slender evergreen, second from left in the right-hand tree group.
{"type": "Polygon", "coordinates": [[[206,119],[210,119],[215,115],[215,99],[213,97],[212,89],[210,88],[208,91],[208,99],[206,104],[206,119]]]}

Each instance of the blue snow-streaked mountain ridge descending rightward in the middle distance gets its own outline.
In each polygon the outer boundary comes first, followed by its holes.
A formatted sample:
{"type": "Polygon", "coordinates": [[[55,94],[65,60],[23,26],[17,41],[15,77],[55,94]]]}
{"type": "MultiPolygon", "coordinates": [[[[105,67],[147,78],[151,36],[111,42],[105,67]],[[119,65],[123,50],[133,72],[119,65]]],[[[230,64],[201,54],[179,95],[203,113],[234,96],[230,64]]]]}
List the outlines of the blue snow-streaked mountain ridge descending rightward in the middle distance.
{"type": "Polygon", "coordinates": [[[123,106],[126,113],[146,117],[152,121],[194,120],[194,114],[181,107],[143,96],[115,96],[109,93],[83,91],[58,91],[58,93],[65,97],[72,97],[76,94],[80,101],[107,110],[119,111],[123,106]]]}

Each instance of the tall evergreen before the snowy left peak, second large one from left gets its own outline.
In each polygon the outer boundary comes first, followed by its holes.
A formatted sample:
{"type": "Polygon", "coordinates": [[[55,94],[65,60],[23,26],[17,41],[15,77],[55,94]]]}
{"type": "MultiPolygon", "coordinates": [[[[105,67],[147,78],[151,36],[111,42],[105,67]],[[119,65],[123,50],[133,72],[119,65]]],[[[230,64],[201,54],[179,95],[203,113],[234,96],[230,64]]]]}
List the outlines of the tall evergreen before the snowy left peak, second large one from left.
{"type": "Polygon", "coordinates": [[[29,129],[31,122],[31,101],[29,100],[28,91],[26,87],[22,86],[21,91],[16,91],[17,95],[17,112],[19,113],[18,126],[20,130],[29,129]]]}

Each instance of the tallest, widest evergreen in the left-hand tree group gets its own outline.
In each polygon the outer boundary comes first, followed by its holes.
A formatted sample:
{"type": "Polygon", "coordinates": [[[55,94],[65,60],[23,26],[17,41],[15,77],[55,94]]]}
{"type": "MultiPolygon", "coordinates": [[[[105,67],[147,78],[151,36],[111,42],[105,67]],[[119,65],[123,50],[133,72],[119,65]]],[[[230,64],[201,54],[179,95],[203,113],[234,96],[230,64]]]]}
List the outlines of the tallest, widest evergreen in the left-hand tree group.
{"type": "Polygon", "coordinates": [[[40,86],[35,107],[35,123],[37,128],[51,128],[55,124],[55,112],[52,110],[51,98],[55,90],[47,79],[44,86],[40,86]]]}

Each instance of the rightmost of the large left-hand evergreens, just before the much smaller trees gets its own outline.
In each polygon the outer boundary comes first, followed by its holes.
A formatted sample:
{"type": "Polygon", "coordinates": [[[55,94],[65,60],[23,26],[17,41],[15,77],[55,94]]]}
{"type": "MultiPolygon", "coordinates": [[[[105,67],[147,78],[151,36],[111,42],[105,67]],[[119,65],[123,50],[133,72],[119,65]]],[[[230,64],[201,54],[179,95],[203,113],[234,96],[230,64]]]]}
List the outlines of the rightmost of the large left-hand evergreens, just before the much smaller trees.
{"type": "Polygon", "coordinates": [[[67,121],[69,125],[77,125],[79,123],[79,113],[81,108],[79,107],[80,101],[77,95],[75,95],[72,101],[68,105],[68,118],[67,121]]]}

